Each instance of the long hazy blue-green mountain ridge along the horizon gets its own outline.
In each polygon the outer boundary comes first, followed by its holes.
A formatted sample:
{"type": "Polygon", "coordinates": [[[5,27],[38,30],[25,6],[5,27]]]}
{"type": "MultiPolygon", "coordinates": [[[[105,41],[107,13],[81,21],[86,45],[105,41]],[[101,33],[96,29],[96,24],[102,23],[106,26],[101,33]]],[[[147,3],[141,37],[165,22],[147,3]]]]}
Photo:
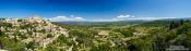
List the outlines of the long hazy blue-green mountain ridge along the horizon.
{"type": "Polygon", "coordinates": [[[119,21],[119,22],[52,22],[52,23],[60,23],[60,24],[69,24],[69,25],[105,25],[105,24],[142,24],[148,23],[154,21],[191,21],[190,17],[182,17],[182,18],[163,18],[163,20],[153,20],[153,21],[145,21],[145,20],[128,20],[128,21],[119,21]]]}

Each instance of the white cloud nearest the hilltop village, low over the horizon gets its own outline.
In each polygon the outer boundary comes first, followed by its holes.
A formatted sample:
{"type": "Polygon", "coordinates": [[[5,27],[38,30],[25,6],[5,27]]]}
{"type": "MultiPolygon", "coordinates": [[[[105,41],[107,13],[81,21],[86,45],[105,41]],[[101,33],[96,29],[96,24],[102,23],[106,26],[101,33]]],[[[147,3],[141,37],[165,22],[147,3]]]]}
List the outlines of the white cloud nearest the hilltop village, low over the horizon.
{"type": "Polygon", "coordinates": [[[67,17],[67,16],[56,16],[56,17],[51,17],[51,18],[47,18],[51,22],[80,22],[80,21],[85,21],[85,18],[83,17],[75,17],[73,15],[71,15],[71,17],[67,17]]]}

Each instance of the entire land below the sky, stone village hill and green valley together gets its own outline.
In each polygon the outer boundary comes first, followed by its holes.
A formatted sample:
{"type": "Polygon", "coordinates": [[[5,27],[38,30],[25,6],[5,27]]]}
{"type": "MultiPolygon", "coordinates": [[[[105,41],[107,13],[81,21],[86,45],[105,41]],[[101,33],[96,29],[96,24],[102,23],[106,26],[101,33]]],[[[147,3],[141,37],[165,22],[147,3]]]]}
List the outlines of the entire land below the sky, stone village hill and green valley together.
{"type": "Polygon", "coordinates": [[[167,51],[191,48],[187,20],[64,24],[41,17],[1,18],[0,48],[9,51],[167,51]],[[122,23],[122,24],[121,24],[122,23]]]}

